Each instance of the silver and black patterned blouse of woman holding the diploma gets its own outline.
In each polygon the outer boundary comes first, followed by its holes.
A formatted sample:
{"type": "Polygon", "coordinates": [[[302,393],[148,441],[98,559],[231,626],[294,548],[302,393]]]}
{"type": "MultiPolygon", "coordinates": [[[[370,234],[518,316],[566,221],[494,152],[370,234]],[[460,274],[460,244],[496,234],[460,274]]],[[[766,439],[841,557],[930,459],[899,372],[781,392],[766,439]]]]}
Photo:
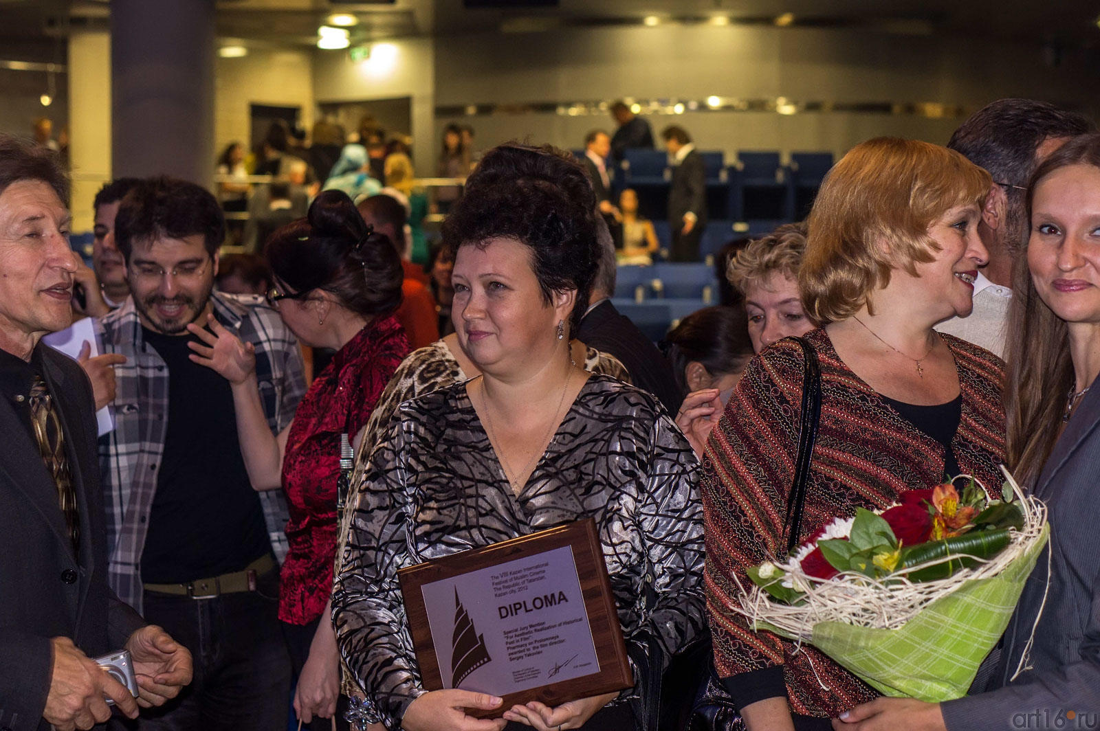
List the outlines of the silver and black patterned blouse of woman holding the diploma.
{"type": "Polygon", "coordinates": [[[582,387],[518,497],[466,384],[403,403],[356,486],[332,595],[341,655],[378,719],[398,728],[426,693],[399,568],[587,517],[628,650],[649,635],[667,662],[704,622],[697,473],[656,397],[607,376],[582,387]]]}

